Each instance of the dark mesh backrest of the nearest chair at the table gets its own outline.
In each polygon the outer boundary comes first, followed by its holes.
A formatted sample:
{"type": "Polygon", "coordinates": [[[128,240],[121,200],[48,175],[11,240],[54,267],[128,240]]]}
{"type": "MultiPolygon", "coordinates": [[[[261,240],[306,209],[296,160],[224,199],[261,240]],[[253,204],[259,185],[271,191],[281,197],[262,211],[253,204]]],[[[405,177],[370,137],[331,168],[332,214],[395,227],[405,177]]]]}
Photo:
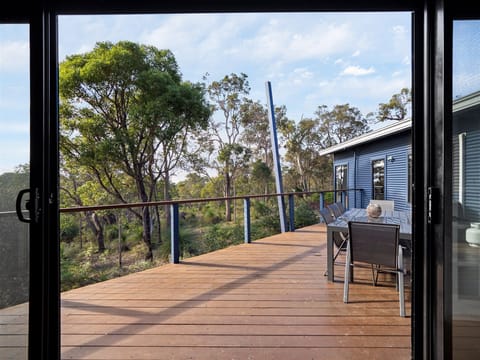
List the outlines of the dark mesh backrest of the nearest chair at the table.
{"type": "Polygon", "coordinates": [[[350,221],[351,262],[397,267],[400,226],[350,221]]]}

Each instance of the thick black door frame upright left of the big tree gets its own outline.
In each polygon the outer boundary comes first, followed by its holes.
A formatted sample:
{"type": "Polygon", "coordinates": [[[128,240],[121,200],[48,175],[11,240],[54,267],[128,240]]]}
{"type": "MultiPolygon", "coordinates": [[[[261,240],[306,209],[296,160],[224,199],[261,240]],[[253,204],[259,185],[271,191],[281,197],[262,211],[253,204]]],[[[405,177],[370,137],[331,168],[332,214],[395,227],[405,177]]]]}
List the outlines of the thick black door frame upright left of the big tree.
{"type": "Polygon", "coordinates": [[[35,5],[30,22],[29,359],[60,359],[57,40],[54,14],[35,5]],[[41,136],[35,136],[41,134],[41,136]]]}

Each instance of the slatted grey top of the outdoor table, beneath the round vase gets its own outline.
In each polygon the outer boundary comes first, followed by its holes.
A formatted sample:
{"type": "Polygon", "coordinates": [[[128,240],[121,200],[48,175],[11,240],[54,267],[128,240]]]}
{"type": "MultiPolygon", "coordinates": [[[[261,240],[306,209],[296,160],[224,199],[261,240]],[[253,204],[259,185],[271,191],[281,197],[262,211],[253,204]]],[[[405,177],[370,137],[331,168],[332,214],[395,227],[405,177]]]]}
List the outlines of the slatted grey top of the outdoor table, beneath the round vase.
{"type": "Polygon", "coordinates": [[[342,216],[328,224],[327,228],[331,231],[348,231],[349,221],[398,224],[400,225],[400,238],[412,239],[412,214],[410,211],[382,211],[380,217],[371,218],[367,216],[366,209],[348,209],[342,216]]]}

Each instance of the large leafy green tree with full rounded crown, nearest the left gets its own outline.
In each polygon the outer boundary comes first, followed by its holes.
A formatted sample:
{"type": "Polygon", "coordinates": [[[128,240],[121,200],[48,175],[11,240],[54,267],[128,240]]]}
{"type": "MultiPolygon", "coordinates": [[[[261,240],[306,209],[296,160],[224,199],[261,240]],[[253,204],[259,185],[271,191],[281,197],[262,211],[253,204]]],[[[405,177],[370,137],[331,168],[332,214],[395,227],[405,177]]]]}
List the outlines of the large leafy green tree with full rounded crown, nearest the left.
{"type": "MultiPolygon", "coordinates": [[[[159,154],[182,154],[185,132],[206,126],[209,115],[203,87],[182,81],[171,51],[129,41],[99,42],[68,56],[60,64],[59,93],[62,156],[122,203],[129,201],[126,179],[137,201],[153,199],[174,163],[159,154]]],[[[150,209],[131,211],[142,221],[152,259],[150,209]]]]}

